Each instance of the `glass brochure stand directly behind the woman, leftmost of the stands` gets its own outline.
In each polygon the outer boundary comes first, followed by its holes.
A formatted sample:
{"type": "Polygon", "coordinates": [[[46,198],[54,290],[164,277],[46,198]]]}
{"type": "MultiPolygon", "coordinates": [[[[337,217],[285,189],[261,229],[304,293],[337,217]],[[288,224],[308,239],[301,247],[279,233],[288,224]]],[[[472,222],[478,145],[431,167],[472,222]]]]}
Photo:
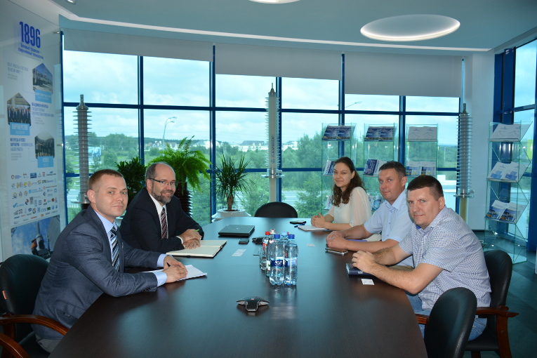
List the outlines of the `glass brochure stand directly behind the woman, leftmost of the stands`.
{"type": "Polygon", "coordinates": [[[324,200],[323,208],[326,214],[330,208],[330,201],[333,188],[333,166],[339,155],[339,148],[343,146],[345,157],[352,159],[356,164],[356,136],[354,135],[356,124],[323,124],[322,131],[322,149],[321,163],[323,165],[321,197],[324,200]]]}

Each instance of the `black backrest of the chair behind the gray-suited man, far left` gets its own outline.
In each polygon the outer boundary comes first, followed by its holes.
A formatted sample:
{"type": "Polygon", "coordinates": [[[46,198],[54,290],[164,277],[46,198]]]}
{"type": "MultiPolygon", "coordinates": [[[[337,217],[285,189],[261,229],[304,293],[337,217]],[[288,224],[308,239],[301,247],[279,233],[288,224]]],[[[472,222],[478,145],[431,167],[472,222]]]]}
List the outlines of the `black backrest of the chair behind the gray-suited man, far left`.
{"type": "MultiPolygon", "coordinates": [[[[34,255],[14,255],[0,265],[0,304],[12,314],[32,314],[48,262],[34,255]]],[[[17,324],[19,341],[30,333],[29,324],[17,324]]]]}

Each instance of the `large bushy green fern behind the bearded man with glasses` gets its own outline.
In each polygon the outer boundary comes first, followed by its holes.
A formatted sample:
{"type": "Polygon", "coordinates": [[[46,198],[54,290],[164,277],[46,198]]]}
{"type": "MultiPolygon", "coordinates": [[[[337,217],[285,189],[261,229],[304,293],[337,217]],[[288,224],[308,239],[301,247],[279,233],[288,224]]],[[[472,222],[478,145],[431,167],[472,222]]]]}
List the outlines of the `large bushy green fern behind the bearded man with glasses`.
{"type": "Polygon", "coordinates": [[[190,150],[192,138],[194,138],[193,135],[191,138],[185,137],[180,140],[175,150],[166,144],[166,148],[159,151],[159,157],[150,161],[150,163],[164,161],[173,168],[175,180],[178,182],[175,197],[179,198],[183,211],[189,216],[191,214],[191,201],[187,183],[190,184],[192,190],[201,191],[200,175],[207,180],[211,179],[211,175],[207,173],[211,161],[205,157],[201,150],[190,150]]]}

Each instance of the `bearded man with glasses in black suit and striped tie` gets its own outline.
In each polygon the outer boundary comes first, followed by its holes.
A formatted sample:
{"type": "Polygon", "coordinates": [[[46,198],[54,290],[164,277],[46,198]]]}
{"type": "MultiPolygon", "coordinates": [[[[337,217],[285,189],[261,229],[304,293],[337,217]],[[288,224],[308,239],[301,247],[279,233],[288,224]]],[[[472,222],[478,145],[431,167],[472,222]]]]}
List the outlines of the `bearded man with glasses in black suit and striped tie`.
{"type": "Polygon", "coordinates": [[[201,226],[183,211],[175,192],[175,172],[159,162],[147,168],[145,187],[121,221],[121,237],[135,248],[166,253],[199,246],[201,226]]]}

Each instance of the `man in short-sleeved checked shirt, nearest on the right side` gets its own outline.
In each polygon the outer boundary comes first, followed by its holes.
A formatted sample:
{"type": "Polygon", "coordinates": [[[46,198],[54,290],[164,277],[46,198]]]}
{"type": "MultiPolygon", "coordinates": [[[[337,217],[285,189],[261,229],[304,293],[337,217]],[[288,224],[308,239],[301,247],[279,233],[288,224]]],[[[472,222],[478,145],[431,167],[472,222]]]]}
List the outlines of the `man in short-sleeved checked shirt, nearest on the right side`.
{"type": "MultiPolygon", "coordinates": [[[[406,195],[414,220],[409,234],[396,246],[376,253],[354,253],[354,266],[406,290],[416,313],[430,314],[439,296],[454,287],[472,290],[478,307],[489,306],[491,287],[481,244],[464,220],[446,208],[442,185],[430,175],[420,175],[411,181],[406,195]],[[385,266],[410,255],[413,271],[385,266]]],[[[476,316],[470,340],[485,325],[486,319],[476,316]]],[[[423,325],[420,328],[423,333],[423,325]]]]}

